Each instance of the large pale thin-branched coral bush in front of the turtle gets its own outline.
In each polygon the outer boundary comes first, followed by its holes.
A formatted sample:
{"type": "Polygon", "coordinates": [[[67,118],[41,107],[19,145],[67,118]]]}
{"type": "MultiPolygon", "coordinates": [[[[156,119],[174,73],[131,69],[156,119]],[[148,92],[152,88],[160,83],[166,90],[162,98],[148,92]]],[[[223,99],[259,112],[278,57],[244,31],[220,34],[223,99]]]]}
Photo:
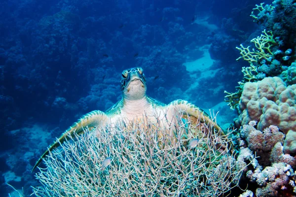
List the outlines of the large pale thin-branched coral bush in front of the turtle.
{"type": "Polygon", "coordinates": [[[235,160],[228,134],[181,113],[177,120],[166,129],[133,122],[76,135],[47,156],[34,193],[213,197],[235,187],[247,164],[235,160]]]}

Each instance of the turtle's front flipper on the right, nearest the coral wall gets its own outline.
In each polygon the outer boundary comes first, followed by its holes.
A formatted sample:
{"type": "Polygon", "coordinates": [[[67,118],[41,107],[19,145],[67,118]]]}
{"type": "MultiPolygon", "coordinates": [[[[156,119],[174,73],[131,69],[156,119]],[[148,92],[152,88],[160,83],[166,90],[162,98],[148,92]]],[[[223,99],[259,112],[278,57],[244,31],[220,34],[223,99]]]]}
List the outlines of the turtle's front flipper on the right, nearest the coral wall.
{"type": "Polygon", "coordinates": [[[222,128],[216,122],[214,122],[206,112],[186,100],[174,100],[173,102],[168,104],[168,108],[169,110],[182,110],[189,116],[194,116],[195,118],[200,120],[200,122],[207,125],[212,125],[215,130],[221,131],[221,134],[224,135],[222,128]]]}

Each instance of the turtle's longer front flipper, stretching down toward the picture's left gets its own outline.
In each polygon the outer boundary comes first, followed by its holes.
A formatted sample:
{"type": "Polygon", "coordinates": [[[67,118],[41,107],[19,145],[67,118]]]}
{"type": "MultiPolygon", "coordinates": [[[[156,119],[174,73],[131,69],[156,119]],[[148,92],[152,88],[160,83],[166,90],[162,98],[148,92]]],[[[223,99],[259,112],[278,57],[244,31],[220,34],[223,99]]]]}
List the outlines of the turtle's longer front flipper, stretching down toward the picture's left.
{"type": "Polygon", "coordinates": [[[83,128],[86,127],[92,129],[94,127],[105,126],[107,121],[107,115],[99,110],[95,110],[85,114],[47,148],[47,150],[42,154],[37,163],[34,165],[32,171],[42,162],[42,159],[45,158],[46,155],[48,155],[49,151],[51,151],[55,147],[60,146],[60,144],[63,143],[66,139],[70,138],[70,136],[74,136],[75,133],[78,135],[82,134],[84,132],[83,128]]]}

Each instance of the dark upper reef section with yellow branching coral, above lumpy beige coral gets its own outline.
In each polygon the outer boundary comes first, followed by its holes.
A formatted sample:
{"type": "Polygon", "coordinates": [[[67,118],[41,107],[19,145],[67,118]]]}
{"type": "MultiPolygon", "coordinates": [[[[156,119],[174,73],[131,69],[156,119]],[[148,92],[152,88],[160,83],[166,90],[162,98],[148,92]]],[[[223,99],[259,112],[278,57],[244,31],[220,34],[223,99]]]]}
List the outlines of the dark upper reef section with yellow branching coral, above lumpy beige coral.
{"type": "MultiPolygon", "coordinates": [[[[256,49],[250,50],[250,46],[244,47],[243,44],[236,47],[241,54],[236,60],[244,59],[250,66],[243,67],[244,78],[236,87],[237,91],[235,93],[224,92],[227,94],[225,101],[228,102],[231,109],[238,109],[237,98],[241,96],[242,86],[245,82],[255,82],[268,76],[279,76],[287,69],[286,65],[291,65],[295,61],[295,13],[296,6],[293,0],[274,0],[272,5],[260,3],[253,9],[251,17],[264,30],[263,34],[251,40],[256,49]],[[246,72],[247,70],[253,72],[246,72]]],[[[291,69],[289,72],[294,73],[291,69]]],[[[284,75],[287,74],[284,73],[284,75]]],[[[293,84],[291,79],[288,84],[293,84]]]]}

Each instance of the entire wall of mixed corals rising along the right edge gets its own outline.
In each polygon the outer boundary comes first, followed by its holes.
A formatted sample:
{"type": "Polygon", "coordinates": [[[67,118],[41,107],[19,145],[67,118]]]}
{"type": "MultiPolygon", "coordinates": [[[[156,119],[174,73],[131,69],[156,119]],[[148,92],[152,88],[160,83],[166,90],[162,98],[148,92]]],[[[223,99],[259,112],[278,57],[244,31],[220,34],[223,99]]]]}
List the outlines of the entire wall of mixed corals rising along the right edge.
{"type": "Polygon", "coordinates": [[[237,47],[237,60],[249,66],[242,68],[237,91],[225,91],[225,100],[239,115],[240,156],[256,158],[246,172],[255,185],[240,197],[296,195],[295,5],[293,0],[256,5],[251,17],[263,32],[251,40],[255,49],[237,47]]]}

